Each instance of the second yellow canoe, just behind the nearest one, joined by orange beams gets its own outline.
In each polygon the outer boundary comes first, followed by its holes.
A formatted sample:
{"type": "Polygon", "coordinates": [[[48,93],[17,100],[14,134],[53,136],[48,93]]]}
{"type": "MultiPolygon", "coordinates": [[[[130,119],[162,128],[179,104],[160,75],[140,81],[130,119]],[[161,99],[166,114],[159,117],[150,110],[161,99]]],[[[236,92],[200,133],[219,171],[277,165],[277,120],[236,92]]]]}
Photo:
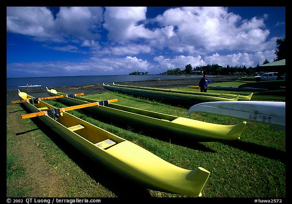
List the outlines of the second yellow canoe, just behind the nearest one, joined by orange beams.
{"type": "MultiPolygon", "coordinates": [[[[66,95],[54,89],[47,92],[52,97],[66,95]]],[[[80,105],[97,102],[85,97],[63,97],[57,100],[69,105],[80,105]]],[[[127,126],[138,127],[139,130],[155,130],[159,135],[168,135],[183,139],[191,139],[197,142],[214,142],[238,140],[246,122],[242,121],[236,125],[220,125],[206,123],[187,117],[178,117],[174,115],[123,106],[116,103],[109,103],[106,106],[92,106],[84,108],[84,111],[94,113],[96,117],[108,119],[114,123],[120,123],[127,126]]]]}

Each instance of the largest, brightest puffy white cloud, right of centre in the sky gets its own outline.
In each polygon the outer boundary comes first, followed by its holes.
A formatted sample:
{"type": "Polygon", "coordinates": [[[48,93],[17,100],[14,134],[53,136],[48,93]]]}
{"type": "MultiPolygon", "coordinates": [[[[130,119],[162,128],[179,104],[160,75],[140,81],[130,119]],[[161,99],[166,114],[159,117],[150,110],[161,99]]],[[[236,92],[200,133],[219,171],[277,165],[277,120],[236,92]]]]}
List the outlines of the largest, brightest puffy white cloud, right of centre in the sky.
{"type": "Polygon", "coordinates": [[[183,7],[169,9],[156,20],[162,26],[176,27],[175,44],[170,49],[200,53],[220,50],[262,51],[259,45],[267,39],[264,19],[241,21],[239,15],[223,7],[183,7]],[[187,46],[192,49],[187,49],[187,46]],[[185,48],[185,49],[184,49],[185,48]],[[197,51],[196,51],[197,50],[197,51]]]}

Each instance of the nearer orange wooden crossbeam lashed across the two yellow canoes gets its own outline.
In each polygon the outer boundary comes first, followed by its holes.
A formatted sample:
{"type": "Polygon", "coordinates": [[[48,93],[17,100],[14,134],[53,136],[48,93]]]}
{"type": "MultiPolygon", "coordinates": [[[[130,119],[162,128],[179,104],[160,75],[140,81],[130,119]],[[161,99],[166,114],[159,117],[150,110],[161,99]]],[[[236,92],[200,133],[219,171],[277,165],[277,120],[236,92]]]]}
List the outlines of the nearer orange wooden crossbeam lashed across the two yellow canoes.
{"type": "Polygon", "coordinates": [[[24,115],[21,115],[21,118],[25,119],[25,118],[30,118],[30,117],[38,117],[38,116],[42,116],[42,115],[47,116],[48,114],[50,115],[50,113],[58,116],[57,114],[59,114],[60,112],[65,112],[68,110],[75,110],[75,109],[79,109],[79,108],[86,108],[86,107],[91,107],[91,106],[96,106],[96,105],[101,105],[101,104],[103,105],[104,102],[112,103],[112,102],[117,102],[117,101],[118,101],[118,99],[111,99],[111,100],[107,100],[107,101],[87,103],[87,104],[81,104],[81,105],[76,105],[76,106],[69,106],[69,107],[65,107],[65,108],[56,108],[56,109],[52,109],[52,110],[48,110],[48,111],[24,114],[24,115]]]}

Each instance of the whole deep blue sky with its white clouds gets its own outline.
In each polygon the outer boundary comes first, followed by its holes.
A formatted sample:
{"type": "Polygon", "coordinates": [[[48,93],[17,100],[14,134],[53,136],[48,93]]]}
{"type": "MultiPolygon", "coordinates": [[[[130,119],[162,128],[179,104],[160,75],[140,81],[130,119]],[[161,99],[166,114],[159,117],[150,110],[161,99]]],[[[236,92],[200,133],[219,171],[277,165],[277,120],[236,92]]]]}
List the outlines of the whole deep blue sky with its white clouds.
{"type": "Polygon", "coordinates": [[[254,67],[278,38],[285,7],[7,7],[7,77],[254,67]]]}

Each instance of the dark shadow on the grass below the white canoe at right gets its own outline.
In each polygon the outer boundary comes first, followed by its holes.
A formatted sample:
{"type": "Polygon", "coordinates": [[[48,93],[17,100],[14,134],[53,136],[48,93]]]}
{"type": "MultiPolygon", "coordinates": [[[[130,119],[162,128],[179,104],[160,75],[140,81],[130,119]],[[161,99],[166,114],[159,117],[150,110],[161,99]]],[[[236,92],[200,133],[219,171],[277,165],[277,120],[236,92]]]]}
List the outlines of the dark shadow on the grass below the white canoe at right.
{"type": "Polygon", "coordinates": [[[236,149],[240,149],[249,153],[254,153],[254,154],[258,154],[267,158],[271,158],[271,159],[275,159],[275,160],[279,160],[281,162],[285,162],[285,158],[286,158],[286,153],[285,151],[281,151],[275,148],[271,148],[271,147],[265,147],[263,145],[259,145],[259,144],[254,144],[251,142],[243,142],[240,140],[236,140],[236,141],[228,141],[228,142],[222,142],[224,144],[227,144],[229,146],[232,146],[236,149]]]}

